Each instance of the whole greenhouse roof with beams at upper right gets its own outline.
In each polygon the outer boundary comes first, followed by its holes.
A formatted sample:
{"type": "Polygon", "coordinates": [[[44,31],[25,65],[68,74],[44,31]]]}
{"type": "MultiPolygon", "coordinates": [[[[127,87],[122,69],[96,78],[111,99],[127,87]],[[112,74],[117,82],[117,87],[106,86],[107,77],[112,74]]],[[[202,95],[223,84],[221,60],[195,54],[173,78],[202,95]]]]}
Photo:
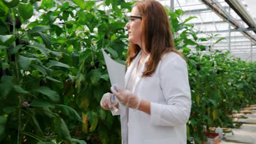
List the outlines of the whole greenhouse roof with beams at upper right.
{"type": "MultiPolygon", "coordinates": [[[[212,50],[231,51],[234,57],[256,60],[256,1],[255,0],[158,0],[163,5],[186,12],[182,20],[189,21],[201,35],[219,34],[212,39],[226,38],[212,50]],[[172,6],[173,5],[173,6],[172,6]]],[[[207,42],[206,44],[211,44],[207,42]]]]}

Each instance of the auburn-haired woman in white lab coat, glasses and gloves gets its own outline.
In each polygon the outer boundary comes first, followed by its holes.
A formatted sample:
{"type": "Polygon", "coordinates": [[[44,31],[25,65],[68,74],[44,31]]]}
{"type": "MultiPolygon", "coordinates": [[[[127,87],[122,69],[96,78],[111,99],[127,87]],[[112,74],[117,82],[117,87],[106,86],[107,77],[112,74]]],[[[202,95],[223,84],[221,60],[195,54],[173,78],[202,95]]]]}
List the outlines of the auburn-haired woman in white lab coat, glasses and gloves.
{"type": "Polygon", "coordinates": [[[130,42],[126,86],[111,87],[118,101],[106,93],[101,107],[118,107],[124,144],[187,143],[191,108],[187,64],[174,48],[164,7],[154,0],[138,1],[126,27],[130,42]]]}

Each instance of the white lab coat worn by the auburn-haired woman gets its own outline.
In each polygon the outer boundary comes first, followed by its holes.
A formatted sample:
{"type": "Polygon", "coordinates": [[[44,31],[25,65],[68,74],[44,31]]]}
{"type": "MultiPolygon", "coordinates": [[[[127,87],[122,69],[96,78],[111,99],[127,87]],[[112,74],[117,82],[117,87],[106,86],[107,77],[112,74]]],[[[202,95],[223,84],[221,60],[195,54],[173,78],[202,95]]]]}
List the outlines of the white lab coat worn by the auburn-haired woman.
{"type": "MultiPolygon", "coordinates": [[[[141,52],[127,68],[126,86],[139,57],[141,52]]],[[[148,58],[149,56],[146,62],[148,58]]],[[[190,115],[191,95],[186,62],[177,53],[167,53],[162,57],[155,73],[146,78],[141,77],[144,66],[140,69],[133,93],[150,101],[151,114],[127,109],[119,103],[122,143],[187,143],[186,123],[190,115]]]]}

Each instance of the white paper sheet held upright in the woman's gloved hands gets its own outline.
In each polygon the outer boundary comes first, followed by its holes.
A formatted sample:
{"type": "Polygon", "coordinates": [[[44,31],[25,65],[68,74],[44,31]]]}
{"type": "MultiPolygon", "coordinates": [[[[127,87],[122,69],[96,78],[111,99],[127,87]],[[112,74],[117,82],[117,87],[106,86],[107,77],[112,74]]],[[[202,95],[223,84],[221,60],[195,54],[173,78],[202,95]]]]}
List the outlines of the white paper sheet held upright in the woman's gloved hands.
{"type": "MultiPolygon", "coordinates": [[[[111,57],[108,56],[108,54],[103,49],[101,50],[104,56],[105,63],[107,65],[111,85],[117,85],[118,87],[124,88],[125,65],[115,62],[111,57]]],[[[119,111],[116,107],[114,107],[114,110],[111,112],[113,116],[119,115],[119,111]]]]}

